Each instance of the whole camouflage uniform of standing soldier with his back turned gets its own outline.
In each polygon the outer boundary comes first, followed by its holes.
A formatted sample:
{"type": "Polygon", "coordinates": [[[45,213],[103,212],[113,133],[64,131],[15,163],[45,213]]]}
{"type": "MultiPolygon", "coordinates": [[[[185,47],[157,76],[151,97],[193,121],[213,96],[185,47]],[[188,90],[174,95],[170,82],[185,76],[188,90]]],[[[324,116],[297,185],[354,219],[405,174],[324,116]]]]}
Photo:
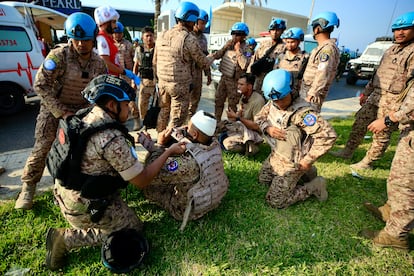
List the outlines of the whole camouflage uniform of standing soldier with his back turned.
{"type": "Polygon", "coordinates": [[[157,38],[154,64],[157,68],[160,113],[157,131],[184,124],[190,104],[191,67],[205,68],[210,60],[187,28],[175,25],[157,38]]]}

